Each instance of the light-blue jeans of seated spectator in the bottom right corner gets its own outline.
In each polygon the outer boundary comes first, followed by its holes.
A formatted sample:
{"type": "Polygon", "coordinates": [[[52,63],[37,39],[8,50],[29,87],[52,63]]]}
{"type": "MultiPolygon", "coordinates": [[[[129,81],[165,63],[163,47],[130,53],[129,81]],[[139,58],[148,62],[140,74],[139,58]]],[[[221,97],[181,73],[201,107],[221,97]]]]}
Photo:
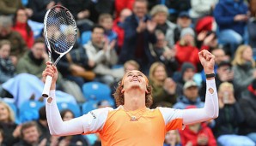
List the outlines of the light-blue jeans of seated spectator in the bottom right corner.
{"type": "Polygon", "coordinates": [[[255,143],[249,137],[235,134],[222,135],[217,138],[217,142],[223,146],[255,146],[255,143]]]}

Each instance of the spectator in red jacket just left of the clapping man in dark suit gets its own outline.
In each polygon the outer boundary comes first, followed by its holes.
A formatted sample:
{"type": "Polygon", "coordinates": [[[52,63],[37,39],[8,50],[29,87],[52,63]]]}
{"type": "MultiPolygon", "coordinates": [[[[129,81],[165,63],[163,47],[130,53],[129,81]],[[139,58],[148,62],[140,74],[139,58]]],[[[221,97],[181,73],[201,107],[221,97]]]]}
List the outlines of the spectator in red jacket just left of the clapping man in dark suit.
{"type": "MultiPolygon", "coordinates": [[[[117,1],[116,1],[117,2],[117,1]]],[[[125,30],[123,28],[123,24],[125,19],[132,14],[131,9],[123,9],[114,21],[113,21],[113,31],[118,34],[118,50],[117,53],[119,54],[125,39],[125,30]]]]}

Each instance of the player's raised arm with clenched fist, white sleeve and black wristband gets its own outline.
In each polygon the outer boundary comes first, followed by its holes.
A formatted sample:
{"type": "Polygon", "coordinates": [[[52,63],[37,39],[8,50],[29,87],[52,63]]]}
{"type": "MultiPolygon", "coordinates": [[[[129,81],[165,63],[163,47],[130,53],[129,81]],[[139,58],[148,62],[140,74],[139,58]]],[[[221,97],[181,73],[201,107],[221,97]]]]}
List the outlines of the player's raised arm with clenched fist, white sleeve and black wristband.
{"type": "MultiPolygon", "coordinates": [[[[201,64],[204,67],[205,74],[214,73],[214,58],[207,50],[198,53],[201,64]]],[[[183,110],[183,124],[189,125],[205,120],[215,119],[219,114],[218,97],[216,91],[216,83],[214,77],[206,79],[206,95],[204,108],[191,108],[183,110]]]]}

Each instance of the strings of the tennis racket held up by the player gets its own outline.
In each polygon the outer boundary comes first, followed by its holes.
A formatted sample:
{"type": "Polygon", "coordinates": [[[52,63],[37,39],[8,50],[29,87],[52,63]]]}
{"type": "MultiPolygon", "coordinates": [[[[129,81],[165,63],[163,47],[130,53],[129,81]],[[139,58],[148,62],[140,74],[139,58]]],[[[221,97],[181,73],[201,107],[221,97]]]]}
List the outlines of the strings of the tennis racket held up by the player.
{"type": "Polygon", "coordinates": [[[65,9],[52,9],[46,23],[47,39],[51,49],[64,53],[75,44],[76,30],[73,19],[65,9]]]}

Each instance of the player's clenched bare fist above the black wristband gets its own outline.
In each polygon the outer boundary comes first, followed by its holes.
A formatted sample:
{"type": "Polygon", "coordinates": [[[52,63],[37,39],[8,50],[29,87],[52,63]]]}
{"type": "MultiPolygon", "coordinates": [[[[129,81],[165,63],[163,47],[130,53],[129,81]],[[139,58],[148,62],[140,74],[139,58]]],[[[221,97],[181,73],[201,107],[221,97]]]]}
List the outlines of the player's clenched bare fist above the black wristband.
{"type": "Polygon", "coordinates": [[[199,60],[201,61],[202,66],[204,67],[204,73],[214,73],[215,56],[212,55],[208,50],[202,50],[198,53],[198,55],[199,60]]]}

